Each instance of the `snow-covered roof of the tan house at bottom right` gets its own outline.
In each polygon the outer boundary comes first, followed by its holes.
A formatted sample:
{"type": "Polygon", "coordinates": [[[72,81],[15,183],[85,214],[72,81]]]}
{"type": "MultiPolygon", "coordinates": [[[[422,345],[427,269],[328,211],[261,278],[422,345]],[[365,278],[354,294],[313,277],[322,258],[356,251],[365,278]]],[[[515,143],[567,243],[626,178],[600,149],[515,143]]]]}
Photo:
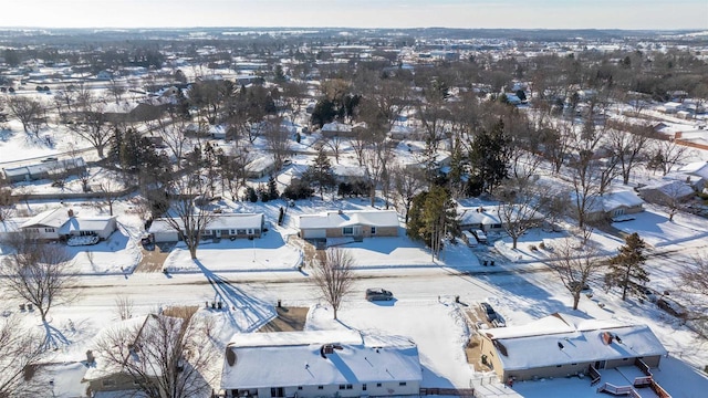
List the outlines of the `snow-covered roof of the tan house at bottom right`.
{"type": "Polygon", "coordinates": [[[646,325],[552,314],[527,325],[483,331],[506,370],[665,355],[646,325]],[[605,336],[613,338],[610,343],[605,336]]]}

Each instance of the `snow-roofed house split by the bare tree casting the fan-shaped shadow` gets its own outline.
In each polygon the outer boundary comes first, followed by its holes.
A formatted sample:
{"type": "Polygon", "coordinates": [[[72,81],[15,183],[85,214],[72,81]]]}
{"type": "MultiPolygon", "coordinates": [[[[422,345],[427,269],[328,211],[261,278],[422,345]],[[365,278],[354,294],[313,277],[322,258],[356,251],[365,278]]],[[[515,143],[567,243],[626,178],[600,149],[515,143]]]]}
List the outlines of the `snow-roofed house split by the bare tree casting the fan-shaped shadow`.
{"type": "MultiPolygon", "coordinates": [[[[147,232],[153,242],[177,242],[185,232],[184,222],[179,218],[173,219],[180,228],[177,229],[167,218],[157,218],[147,232]]],[[[266,219],[262,213],[215,213],[207,222],[204,239],[236,239],[260,238],[263,233],[266,219]]]]}

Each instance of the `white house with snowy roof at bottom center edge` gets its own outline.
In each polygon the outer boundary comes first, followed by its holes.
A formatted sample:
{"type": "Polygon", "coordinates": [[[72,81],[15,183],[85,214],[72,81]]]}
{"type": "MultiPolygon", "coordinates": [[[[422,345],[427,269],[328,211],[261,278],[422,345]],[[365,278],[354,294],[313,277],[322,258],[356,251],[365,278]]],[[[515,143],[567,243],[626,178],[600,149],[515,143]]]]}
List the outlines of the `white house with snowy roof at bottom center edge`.
{"type": "Polygon", "coordinates": [[[227,345],[226,397],[418,396],[418,348],[403,336],[355,331],[236,334],[227,345]]]}

